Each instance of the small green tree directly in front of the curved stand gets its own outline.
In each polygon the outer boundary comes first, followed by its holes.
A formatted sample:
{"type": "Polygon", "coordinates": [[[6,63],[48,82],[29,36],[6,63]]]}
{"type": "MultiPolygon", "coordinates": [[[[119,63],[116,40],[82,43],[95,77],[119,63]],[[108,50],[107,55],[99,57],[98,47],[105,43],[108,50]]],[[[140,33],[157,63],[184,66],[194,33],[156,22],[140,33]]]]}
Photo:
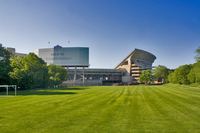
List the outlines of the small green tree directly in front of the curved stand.
{"type": "Polygon", "coordinates": [[[151,70],[144,70],[142,71],[142,74],[140,75],[140,82],[144,84],[150,84],[153,80],[152,72],[151,70]]]}

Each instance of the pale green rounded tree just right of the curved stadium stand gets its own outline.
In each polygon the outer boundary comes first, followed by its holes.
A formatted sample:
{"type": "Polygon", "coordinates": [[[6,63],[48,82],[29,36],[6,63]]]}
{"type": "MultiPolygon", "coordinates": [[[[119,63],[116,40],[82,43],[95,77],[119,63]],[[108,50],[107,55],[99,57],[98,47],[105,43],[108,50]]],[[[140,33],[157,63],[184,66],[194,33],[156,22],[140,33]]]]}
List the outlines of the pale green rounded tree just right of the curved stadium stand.
{"type": "Polygon", "coordinates": [[[169,69],[165,66],[157,66],[153,69],[153,76],[160,82],[168,82],[169,69]]]}

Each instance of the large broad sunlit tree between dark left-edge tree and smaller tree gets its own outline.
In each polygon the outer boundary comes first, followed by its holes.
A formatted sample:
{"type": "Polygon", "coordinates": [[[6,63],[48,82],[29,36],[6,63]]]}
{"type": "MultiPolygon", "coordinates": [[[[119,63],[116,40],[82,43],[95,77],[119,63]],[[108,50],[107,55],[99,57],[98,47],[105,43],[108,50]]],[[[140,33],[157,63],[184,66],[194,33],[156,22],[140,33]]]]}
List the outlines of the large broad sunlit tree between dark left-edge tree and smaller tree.
{"type": "Polygon", "coordinates": [[[48,85],[46,63],[34,53],[11,59],[11,78],[22,89],[41,88],[48,85]]]}

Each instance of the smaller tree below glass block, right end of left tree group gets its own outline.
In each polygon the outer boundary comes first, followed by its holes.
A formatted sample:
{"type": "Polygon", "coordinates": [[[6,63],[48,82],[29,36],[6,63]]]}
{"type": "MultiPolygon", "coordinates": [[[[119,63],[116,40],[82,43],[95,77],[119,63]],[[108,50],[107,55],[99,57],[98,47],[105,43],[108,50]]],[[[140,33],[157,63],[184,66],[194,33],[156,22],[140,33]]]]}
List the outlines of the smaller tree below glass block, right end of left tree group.
{"type": "Polygon", "coordinates": [[[67,79],[67,70],[61,66],[49,65],[48,74],[50,86],[59,85],[67,79]]]}

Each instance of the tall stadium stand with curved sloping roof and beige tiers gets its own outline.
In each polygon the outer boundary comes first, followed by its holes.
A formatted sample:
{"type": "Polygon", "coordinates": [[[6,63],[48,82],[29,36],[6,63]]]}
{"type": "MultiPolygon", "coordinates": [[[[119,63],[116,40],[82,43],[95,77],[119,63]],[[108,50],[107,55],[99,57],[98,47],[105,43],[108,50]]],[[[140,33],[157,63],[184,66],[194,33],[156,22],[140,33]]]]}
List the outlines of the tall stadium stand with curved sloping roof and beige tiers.
{"type": "Polygon", "coordinates": [[[156,56],[141,49],[131,52],[115,69],[125,71],[122,77],[124,82],[139,82],[142,70],[152,69],[156,56]]]}

